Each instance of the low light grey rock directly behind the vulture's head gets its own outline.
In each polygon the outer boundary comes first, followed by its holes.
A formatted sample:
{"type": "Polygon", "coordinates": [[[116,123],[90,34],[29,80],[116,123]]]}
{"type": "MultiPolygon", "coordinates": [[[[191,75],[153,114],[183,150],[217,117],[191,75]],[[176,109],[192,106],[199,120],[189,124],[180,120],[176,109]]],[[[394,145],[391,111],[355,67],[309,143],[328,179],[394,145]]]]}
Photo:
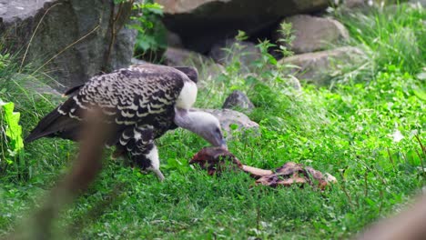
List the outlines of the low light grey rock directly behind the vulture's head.
{"type": "Polygon", "coordinates": [[[249,119],[249,116],[230,109],[201,109],[218,117],[220,126],[224,129],[228,136],[232,135],[232,131],[245,132],[247,130],[255,133],[259,132],[259,125],[249,119]],[[233,129],[234,125],[237,129],[233,129]]]}

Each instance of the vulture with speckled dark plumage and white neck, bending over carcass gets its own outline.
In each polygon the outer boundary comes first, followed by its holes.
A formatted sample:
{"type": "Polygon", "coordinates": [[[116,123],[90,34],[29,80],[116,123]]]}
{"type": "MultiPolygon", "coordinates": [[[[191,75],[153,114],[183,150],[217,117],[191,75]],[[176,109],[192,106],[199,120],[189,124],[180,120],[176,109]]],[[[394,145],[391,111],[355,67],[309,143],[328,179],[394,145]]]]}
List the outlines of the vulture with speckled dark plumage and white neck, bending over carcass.
{"type": "Polygon", "coordinates": [[[66,91],[69,98],[40,120],[25,142],[45,136],[78,141],[86,112],[98,108],[113,129],[106,146],[115,146],[115,155],[127,155],[162,181],[155,139],[167,130],[180,126],[211,145],[227,148],[218,118],[190,110],[197,98],[197,81],[193,67],[148,64],[93,76],[66,91]]]}

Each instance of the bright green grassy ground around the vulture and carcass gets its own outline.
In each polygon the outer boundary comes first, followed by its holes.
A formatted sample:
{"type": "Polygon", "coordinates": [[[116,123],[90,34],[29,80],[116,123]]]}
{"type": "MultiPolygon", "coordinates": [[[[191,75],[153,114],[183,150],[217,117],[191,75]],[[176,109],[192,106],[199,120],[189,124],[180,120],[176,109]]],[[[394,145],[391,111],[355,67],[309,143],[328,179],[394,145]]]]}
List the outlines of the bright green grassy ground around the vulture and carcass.
{"type": "MultiPolygon", "coordinates": [[[[228,65],[200,91],[198,106],[219,107],[233,89],[246,92],[257,105],[250,117],[262,135],[237,135],[228,143],[232,153],[263,168],[288,161],[312,165],[335,175],[339,184],[318,192],[253,186],[245,174],[210,177],[188,166],[207,144],[177,130],[158,140],[164,183],[108,161],[96,184],[62,214],[56,236],[348,238],[407,205],[425,184],[426,159],[415,137],[426,145],[425,11],[400,6],[338,18],[349,27],[350,44],[367,57],[362,65],[345,68],[332,88],[304,85],[302,92],[294,91],[284,66],[264,55],[249,76],[241,74],[238,61],[228,65]]],[[[4,62],[0,98],[15,102],[26,134],[55,101],[17,87],[10,81],[14,60],[4,62]]],[[[75,148],[43,139],[25,146],[25,165],[0,162],[0,236],[39,205],[66,172],[75,148]]]]}

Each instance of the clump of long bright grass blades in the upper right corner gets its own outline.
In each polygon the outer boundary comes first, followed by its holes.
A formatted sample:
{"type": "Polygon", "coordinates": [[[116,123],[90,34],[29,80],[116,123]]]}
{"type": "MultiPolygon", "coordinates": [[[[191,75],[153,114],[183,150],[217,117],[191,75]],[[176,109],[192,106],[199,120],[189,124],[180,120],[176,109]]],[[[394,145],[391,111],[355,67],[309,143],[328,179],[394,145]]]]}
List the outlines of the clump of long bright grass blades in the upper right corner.
{"type": "Polygon", "coordinates": [[[369,55],[373,71],[395,65],[402,71],[416,74],[426,60],[426,12],[421,5],[372,7],[362,12],[337,13],[353,41],[369,55]]]}

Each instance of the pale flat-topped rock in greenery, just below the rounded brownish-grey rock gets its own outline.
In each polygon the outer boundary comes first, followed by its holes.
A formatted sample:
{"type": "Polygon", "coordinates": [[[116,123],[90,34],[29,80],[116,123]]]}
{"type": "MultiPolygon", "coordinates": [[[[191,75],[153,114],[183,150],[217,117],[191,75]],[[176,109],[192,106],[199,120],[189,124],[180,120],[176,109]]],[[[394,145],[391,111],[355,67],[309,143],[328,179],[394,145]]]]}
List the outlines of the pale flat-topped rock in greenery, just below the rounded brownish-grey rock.
{"type": "Polygon", "coordinates": [[[299,66],[293,71],[299,79],[315,85],[328,85],[330,75],[339,65],[357,65],[365,57],[356,47],[344,46],[316,53],[293,55],[280,60],[280,64],[299,66]]]}

